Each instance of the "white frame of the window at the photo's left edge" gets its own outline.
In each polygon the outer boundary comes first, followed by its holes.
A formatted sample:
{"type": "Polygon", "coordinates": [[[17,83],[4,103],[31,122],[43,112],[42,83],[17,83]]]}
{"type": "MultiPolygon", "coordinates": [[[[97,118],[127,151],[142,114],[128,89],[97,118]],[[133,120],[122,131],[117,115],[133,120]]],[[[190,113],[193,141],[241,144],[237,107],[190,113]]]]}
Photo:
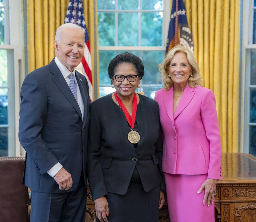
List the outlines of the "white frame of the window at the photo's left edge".
{"type": "Polygon", "coordinates": [[[8,155],[22,156],[24,150],[18,139],[20,108],[20,78],[24,75],[22,50],[21,1],[5,0],[5,40],[0,49],[13,51],[13,64],[8,64],[8,155]],[[10,75],[9,75],[10,73],[10,75]]]}

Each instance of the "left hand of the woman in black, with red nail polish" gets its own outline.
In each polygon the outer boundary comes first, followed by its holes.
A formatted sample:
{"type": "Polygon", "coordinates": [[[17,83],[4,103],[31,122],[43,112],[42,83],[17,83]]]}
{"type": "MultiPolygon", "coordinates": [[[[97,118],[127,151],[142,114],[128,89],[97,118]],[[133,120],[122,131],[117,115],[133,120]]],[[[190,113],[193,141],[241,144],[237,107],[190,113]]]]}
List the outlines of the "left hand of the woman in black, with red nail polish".
{"type": "Polygon", "coordinates": [[[106,197],[102,196],[94,200],[96,217],[101,222],[108,222],[107,216],[109,216],[108,201],[106,197]]]}

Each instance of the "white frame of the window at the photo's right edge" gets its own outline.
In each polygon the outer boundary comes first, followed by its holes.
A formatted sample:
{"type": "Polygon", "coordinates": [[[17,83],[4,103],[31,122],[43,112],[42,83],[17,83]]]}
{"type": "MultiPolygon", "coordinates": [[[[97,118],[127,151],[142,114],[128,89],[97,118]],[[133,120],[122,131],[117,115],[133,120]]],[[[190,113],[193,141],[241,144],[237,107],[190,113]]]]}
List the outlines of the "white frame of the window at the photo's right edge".
{"type": "Polygon", "coordinates": [[[243,1],[243,41],[242,41],[242,84],[241,84],[241,135],[240,152],[250,151],[250,89],[255,86],[250,85],[250,50],[256,49],[253,42],[253,0],[243,1]],[[248,16],[249,15],[249,16],[248,16]]]}

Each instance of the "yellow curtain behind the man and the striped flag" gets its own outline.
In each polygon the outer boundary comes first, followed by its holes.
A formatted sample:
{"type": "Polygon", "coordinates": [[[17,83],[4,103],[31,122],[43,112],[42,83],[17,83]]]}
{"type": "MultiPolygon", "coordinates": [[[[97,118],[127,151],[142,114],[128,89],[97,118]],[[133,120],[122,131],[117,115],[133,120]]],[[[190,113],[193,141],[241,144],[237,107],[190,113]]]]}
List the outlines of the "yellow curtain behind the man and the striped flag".
{"type": "MultiPolygon", "coordinates": [[[[27,56],[28,73],[49,64],[54,58],[54,38],[56,29],[64,23],[69,0],[23,0],[27,5],[27,56]]],[[[97,32],[95,35],[94,27],[97,27],[97,14],[94,15],[94,1],[83,0],[84,17],[89,33],[91,59],[92,59],[92,80],[94,85],[94,55],[97,54],[98,43],[97,32]],[[96,19],[94,19],[94,17],[96,19]],[[95,25],[96,23],[96,25],[95,25]],[[95,41],[96,40],[96,41],[95,41]],[[95,52],[94,45],[97,45],[95,52]]],[[[98,79],[98,78],[97,78],[98,79]]]]}

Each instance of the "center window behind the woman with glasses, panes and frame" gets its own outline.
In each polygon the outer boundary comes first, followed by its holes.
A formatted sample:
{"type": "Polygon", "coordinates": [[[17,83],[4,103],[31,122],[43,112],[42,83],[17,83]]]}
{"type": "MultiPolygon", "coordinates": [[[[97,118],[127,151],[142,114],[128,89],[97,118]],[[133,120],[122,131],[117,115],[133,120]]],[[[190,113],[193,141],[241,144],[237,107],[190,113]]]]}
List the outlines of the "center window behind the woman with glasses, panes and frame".
{"type": "MultiPolygon", "coordinates": [[[[143,64],[139,92],[154,98],[162,88],[158,64],[165,56],[164,2],[158,0],[98,0],[99,97],[114,91],[107,68],[117,54],[131,52],[143,64]]],[[[167,2],[167,1],[166,1],[167,2]]],[[[170,3],[168,3],[170,6],[170,3]]],[[[169,19],[169,15],[167,16],[169,19]]],[[[169,22],[169,21],[168,21],[169,22]]],[[[167,24],[168,24],[167,22],[167,24]]]]}

